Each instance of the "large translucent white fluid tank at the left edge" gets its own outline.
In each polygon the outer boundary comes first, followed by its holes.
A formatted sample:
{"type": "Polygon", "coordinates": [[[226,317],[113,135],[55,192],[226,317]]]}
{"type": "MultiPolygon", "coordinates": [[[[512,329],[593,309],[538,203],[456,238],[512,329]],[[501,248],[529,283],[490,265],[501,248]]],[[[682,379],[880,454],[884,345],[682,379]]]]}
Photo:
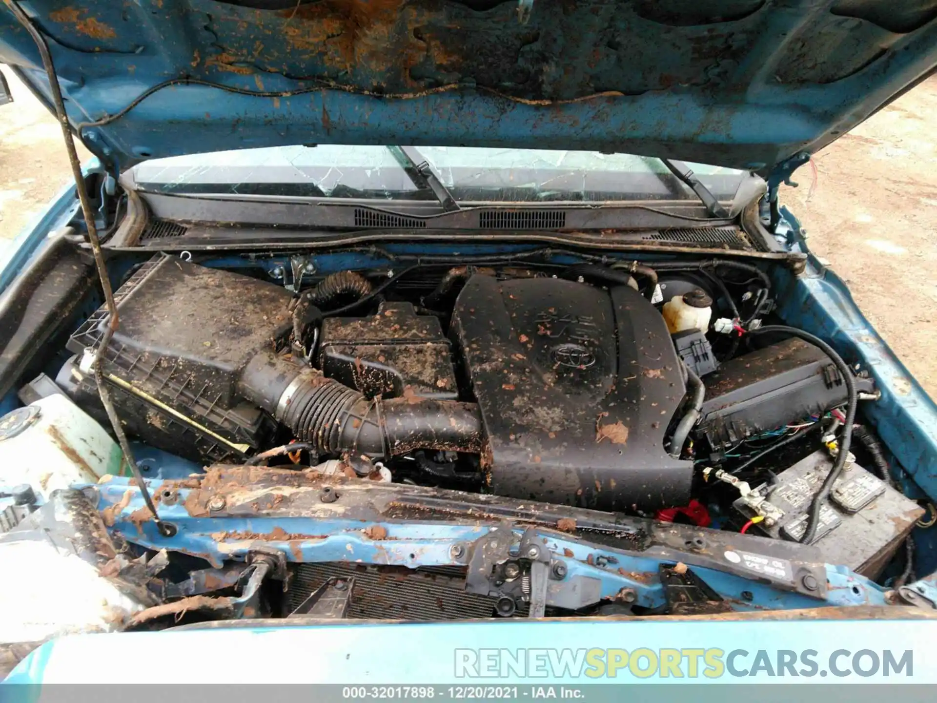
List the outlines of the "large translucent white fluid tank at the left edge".
{"type": "Polygon", "coordinates": [[[0,484],[56,488],[120,472],[120,446],[69,398],[47,396],[0,417],[0,484]]]}

